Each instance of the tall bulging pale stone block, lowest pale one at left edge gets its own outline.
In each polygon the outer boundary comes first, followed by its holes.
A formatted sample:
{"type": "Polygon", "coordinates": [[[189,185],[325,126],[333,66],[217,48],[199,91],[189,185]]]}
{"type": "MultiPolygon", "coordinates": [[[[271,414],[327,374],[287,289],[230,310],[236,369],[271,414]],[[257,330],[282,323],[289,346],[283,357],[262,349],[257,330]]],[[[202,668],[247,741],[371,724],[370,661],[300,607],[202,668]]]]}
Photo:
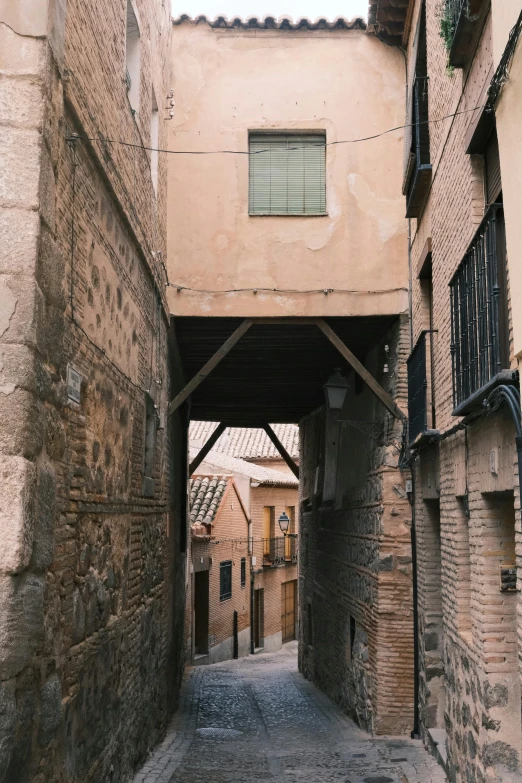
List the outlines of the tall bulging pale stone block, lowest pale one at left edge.
{"type": "Polygon", "coordinates": [[[29,564],[34,538],[36,470],[23,457],[0,456],[0,573],[16,574],[29,564]]]}

